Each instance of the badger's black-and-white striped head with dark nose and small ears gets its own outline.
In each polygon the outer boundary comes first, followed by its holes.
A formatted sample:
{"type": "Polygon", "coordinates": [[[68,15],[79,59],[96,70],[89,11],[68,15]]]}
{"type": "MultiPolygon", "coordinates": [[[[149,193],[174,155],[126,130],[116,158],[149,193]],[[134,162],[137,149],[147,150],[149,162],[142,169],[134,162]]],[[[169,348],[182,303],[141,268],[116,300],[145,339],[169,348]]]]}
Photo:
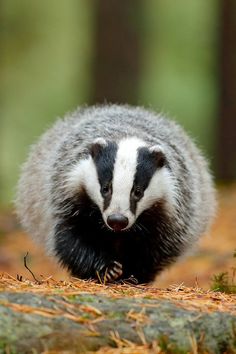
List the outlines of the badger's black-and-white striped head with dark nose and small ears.
{"type": "Polygon", "coordinates": [[[69,182],[77,190],[86,190],[113,231],[129,229],[144,210],[160,200],[169,209],[174,203],[165,151],[136,137],[119,143],[96,139],[88,158],[70,172],[69,182]]]}

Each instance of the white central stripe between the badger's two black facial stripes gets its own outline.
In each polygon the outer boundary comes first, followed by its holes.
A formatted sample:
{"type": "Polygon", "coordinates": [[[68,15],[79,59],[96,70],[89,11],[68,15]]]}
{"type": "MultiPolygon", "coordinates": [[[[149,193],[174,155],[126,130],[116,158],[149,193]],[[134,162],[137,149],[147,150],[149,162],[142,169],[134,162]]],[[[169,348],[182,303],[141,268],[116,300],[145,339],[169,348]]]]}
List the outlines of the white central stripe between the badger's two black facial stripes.
{"type": "Polygon", "coordinates": [[[126,138],[119,142],[113,172],[112,198],[106,214],[129,213],[130,191],[134,182],[137,166],[138,148],[146,143],[136,137],[126,138]]]}

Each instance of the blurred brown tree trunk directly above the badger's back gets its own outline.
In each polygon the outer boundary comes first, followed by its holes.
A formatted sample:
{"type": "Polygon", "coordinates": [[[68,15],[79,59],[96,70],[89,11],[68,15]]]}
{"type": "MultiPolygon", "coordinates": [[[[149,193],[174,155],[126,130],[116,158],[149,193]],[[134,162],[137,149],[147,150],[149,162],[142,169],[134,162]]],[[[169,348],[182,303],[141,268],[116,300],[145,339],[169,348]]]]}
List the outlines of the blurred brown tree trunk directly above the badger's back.
{"type": "Polygon", "coordinates": [[[142,0],[98,0],[92,103],[137,103],[142,0]]]}

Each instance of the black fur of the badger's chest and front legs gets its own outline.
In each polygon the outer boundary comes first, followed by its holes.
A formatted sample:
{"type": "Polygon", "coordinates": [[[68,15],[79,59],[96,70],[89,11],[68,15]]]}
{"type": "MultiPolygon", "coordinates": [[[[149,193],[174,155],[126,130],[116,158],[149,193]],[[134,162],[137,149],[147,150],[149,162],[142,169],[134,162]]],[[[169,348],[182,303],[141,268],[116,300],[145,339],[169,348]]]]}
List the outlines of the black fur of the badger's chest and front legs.
{"type": "Polygon", "coordinates": [[[111,261],[123,266],[122,279],[152,281],[181,252],[181,241],[167,217],[163,203],[143,212],[127,231],[114,232],[105,225],[99,208],[87,197],[71,202],[55,230],[55,251],[61,263],[79,278],[97,277],[111,261]]]}

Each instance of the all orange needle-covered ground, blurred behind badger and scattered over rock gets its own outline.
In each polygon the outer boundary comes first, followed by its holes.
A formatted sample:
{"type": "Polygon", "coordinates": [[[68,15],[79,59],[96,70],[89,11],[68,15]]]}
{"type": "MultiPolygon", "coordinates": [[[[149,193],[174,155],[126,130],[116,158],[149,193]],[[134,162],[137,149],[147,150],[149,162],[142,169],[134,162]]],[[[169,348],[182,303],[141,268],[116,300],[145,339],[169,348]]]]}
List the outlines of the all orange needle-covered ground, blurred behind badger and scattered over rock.
{"type": "MultiPolygon", "coordinates": [[[[210,290],[214,275],[222,272],[228,272],[230,282],[235,282],[232,278],[234,277],[236,267],[236,258],[233,257],[236,249],[236,184],[219,187],[218,199],[218,215],[209,235],[201,239],[198,248],[192,255],[189,255],[188,258],[186,257],[186,259],[181,260],[178,264],[175,264],[165,271],[157,278],[156,282],[149,286],[130,286],[127,284],[106,285],[71,279],[65,271],[60,269],[52,260],[48,259],[43,251],[36,247],[31,242],[30,238],[20,230],[12,213],[2,212],[0,214],[0,295],[2,293],[2,296],[4,296],[4,293],[9,293],[9,296],[12,297],[16,293],[19,296],[20,294],[26,294],[24,296],[27,296],[28,293],[31,293],[32,296],[36,297],[49,296],[49,300],[51,300],[52,296],[57,297],[60,295],[60,300],[56,298],[53,301],[65,300],[66,302],[70,301],[74,296],[80,296],[85,293],[89,293],[91,296],[96,294],[98,297],[105,295],[110,299],[131,298],[134,302],[136,300],[146,302],[149,300],[170,300],[174,306],[177,306],[177,308],[183,311],[186,310],[191,313],[194,311],[200,312],[200,315],[197,315],[197,317],[195,315],[197,319],[199,316],[201,317],[202,314],[210,315],[211,313],[215,313],[216,315],[222,313],[223,315],[236,316],[235,294],[227,295],[210,290]],[[24,266],[24,256],[27,252],[29,252],[27,264],[36,278],[41,281],[40,284],[34,281],[31,274],[24,266]],[[21,281],[19,281],[19,277],[21,281]]],[[[17,301],[13,300],[9,300],[9,303],[6,303],[2,298],[0,307],[4,304],[4,306],[9,307],[9,311],[12,310],[28,314],[35,312],[43,317],[57,316],[54,310],[50,310],[50,312],[47,308],[43,309],[42,307],[35,310],[35,304],[28,305],[27,302],[24,302],[25,300],[22,300],[23,302],[21,303],[17,303],[17,301]]],[[[90,300],[92,301],[92,299],[90,300]]],[[[125,304],[125,306],[126,305],[127,304],[125,304]]],[[[140,304],[136,304],[134,306],[139,305],[140,304]]],[[[67,320],[71,320],[72,322],[80,322],[81,314],[78,317],[78,314],[75,314],[73,312],[74,308],[72,308],[75,304],[71,306],[72,305],[68,305],[64,309],[64,312],[60,310],[60,316],[64,316],[67,320]]],[[[107,316],[104,315],[105,317],[102,317],[103,315],[100,312],[103,312],[103,309],[100,308],[100,310],[96,310],[96,307],[93,307],[93,303],[90,307],[89,304],[86,306],[80,310],[85,311],[85,313],[92,313],[94,317],[100,316],[98,323],[103,323],[103,319],[107,316]]],[[[161,308],[162,303],[153,303],[149,304],[149,306],[150,308],[156,306],[156,309],[158,309],[161,308]]],[[[134,311],[131,306],[125,315],[124,322],[135,321],[137,325],[137,323],[142,323],[142,321],[144,321],[144,323],[148,321],[143,310],[137,310],[138,312],[136,310],[134,311]]],[[[106,312],[106,310],[104,311],[106,312]]],[[[176,310],[174,309],[174,311],[176,310]]],[[[151,316],[153,316],[153,314],[151,314],[151,316]]],[[[82,320],[84,321],[83,318],[82,320]]],[[[235,317],[233,318],[235,319],[235,317]]],[[[97,320],[95,319],[94,321],[96,322],[97,320]]],[[[195,319],[193,323],[194,321],[195,319]]],[[[228,323],[228,319],[226,322],[228,323]]],[[[116,331],[116,328],[112,328],[109,332],[109,338],[110,341],[113,342],[113,345],[116,346],[116,349],[108,345],[102,347],[98,352],[114,354],[172,352],[171,350],[168,351],[168,348],[167,351],[163,351],[163,346],[159,346],[158,342],[147,341],[141,332],[138,333],[138,337],[140,339],[139,344],[134,344],[132,341],[123,340],[116,331]]],[[[191,341],[191,353],[206,353],[205,351],[199,350],[201,344],[199,344],[199,341],[196,341],[196,338],[191,337],[189,340],[191,341]]],[[[10,352],[7,351],[7,346],[4,348],[5,351],[1,351],[0,343],[0,353],[10,352]]],[[[53,354],[56,352],[45,350],[45,353],[53,354]]],[[[70,351],[66,351],[66,353],[70,353],[70,351]]]]}

